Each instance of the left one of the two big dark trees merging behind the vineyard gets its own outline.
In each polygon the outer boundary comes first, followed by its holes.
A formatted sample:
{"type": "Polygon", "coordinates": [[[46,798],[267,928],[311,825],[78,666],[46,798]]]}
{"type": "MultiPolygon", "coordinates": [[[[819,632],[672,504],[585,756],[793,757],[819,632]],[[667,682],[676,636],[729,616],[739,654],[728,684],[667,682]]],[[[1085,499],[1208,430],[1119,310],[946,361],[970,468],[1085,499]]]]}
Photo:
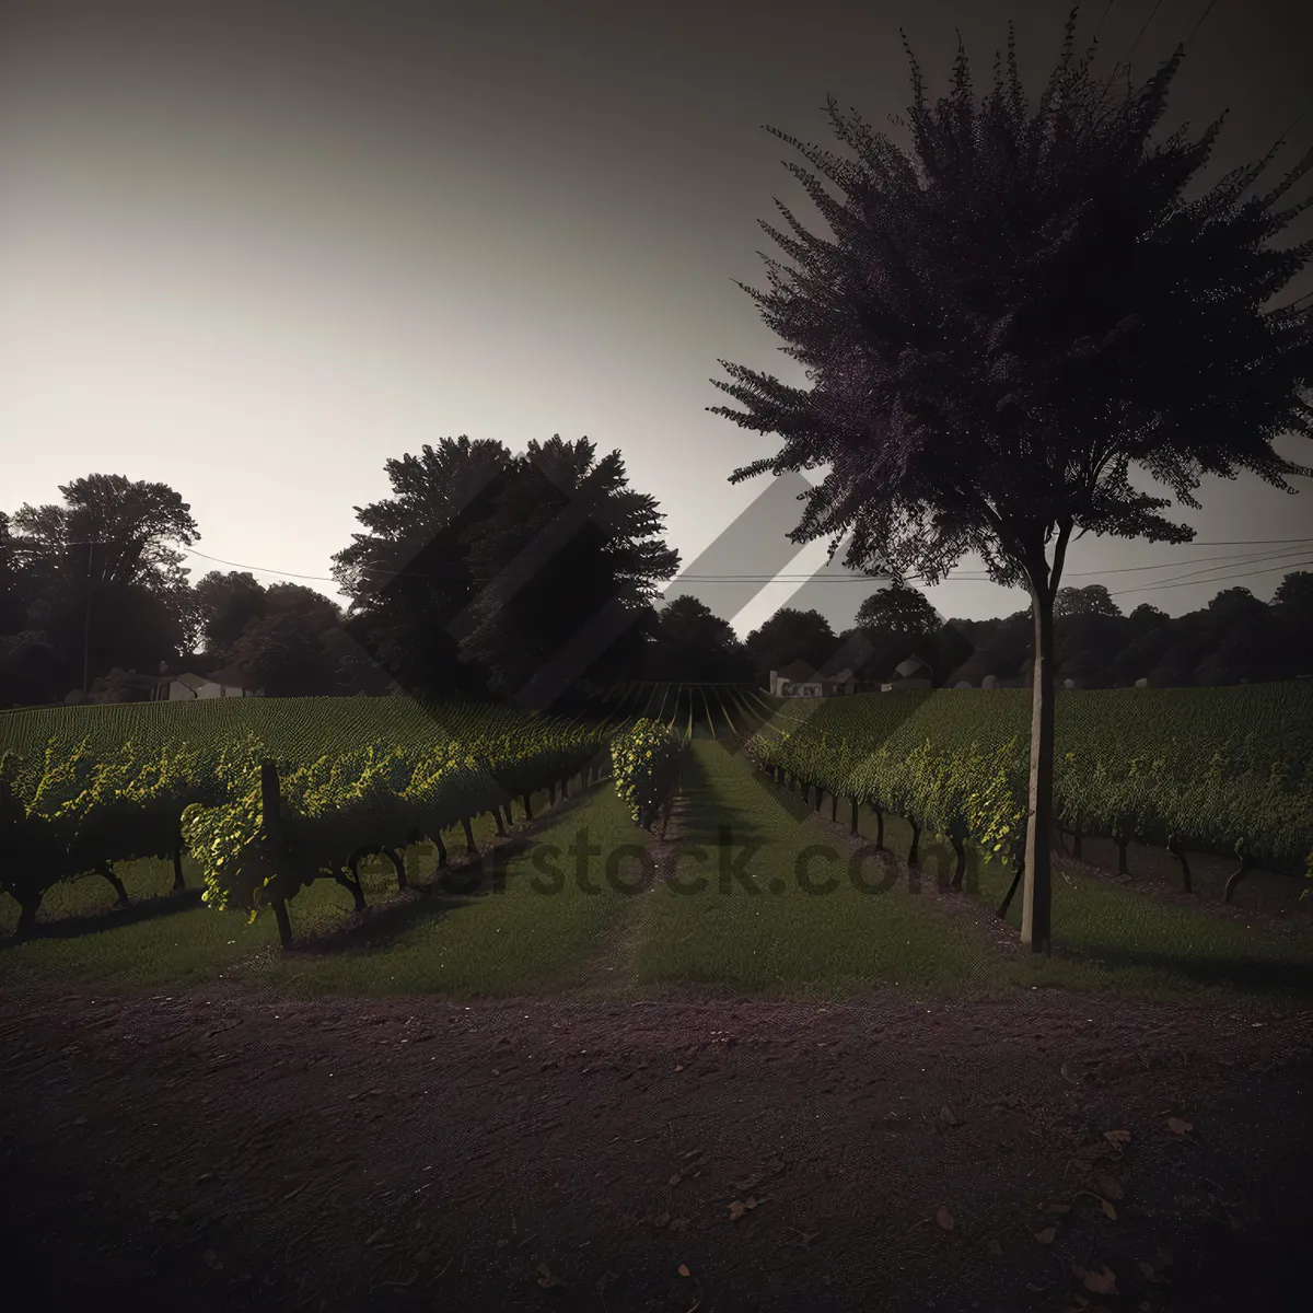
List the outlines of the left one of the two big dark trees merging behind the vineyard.
{"type": "Polygon", "coordinates": [[[500,442],[444,437],[386,462],[393,494],[356,507],[364,533],[334,557],[352,599],[347,630],[403,687],[475,692],[484,671],[461,660],[477,597],[467,537],[492,513],[515,461],[500,442]]]}

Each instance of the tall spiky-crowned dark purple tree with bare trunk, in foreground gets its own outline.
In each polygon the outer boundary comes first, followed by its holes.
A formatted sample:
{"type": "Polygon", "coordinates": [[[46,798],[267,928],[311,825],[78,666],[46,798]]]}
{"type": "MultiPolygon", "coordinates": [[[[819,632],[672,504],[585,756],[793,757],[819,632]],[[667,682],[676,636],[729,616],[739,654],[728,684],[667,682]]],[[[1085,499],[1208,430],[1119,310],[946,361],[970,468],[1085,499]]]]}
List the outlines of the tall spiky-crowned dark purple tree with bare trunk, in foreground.
{"type": "MultiPolygon", "coordinates": [[[[911,151],[857,117],[830,117],[857,159],[796,146],[834,232],[765,231],[796,261],[767,260],[772,290],[744,288],[813,386],[729,365],[714,407],[781,450],[737,470],[825,470],[796,542],[850,534],[844,563],[941,580],[968,553],[1031,596],[1035,647],[1022,939],[1050,947],[1053,603],[1073,536],[1188,542],[1171,506],[1132,487],[1132,466],[1197,506],[1203,473],[1247,470],[1284,491],[1309,474],[1272,439],[1313,436],[1313,307],[1266,310],[1313,244],[1268,239],[1310,201],[1276,209],[1309,167],[1245,193],[1267,160],[1184,198],[1221,121],[1190,140],[1150,133],[1183,50],[1138,91],[1073,59],[1075,13],[1035,112],[1011,34],[1007,76],[977,104],[958,46],[952,91],[927,101],[910,55],[911,151]]],[[[1268,156],[1270,159],[1271,156],[1268,156]]],[[[710,408],[710,407],[709,407],[710,408]]]]}

